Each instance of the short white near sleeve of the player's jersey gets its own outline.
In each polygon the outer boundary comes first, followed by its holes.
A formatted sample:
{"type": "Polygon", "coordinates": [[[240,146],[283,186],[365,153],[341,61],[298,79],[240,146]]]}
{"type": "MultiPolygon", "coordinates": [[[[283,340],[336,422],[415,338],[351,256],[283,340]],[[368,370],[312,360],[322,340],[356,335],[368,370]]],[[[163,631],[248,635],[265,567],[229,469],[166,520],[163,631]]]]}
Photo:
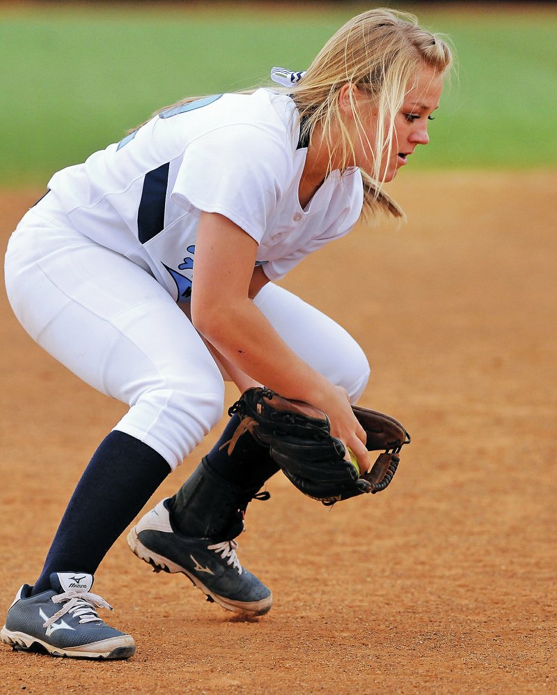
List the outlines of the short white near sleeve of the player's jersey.
{"type": "Polygon", "coordinates": [[[288,169],[277,137],[253,125],[228,125],[187,145],[171,198],[228,217],[260,243],[288,169]]]}

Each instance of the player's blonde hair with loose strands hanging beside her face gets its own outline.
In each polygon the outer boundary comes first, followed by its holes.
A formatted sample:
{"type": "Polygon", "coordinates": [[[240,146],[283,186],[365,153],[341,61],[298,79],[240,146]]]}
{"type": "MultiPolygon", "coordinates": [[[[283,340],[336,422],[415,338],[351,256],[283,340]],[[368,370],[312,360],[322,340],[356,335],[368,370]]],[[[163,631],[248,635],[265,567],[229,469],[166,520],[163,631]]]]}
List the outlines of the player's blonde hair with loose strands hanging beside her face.
{"type": "Polygon", "coordinates": [[[421,29],[414,15],[379,8],[356,15],[341,26],[315,56],[302,79],[288,90],[299,110],[301,137],[310,138],[317,125],[324,134],[329,167],[339,155],[340,161],[346,162],[353,153],[340,112],[341,87],[353,84],[375,100],[379,112],[377,137],[375,143],[369,143],[350,91],[360,137],[366,139],[374,160],[371,174],[362,171],[364,215],[382,208],[402,217],[400,207],[382,190],[381,154],[390,151],[395,116],[418,71],[425,65],[443,74],[451,63],[448,44],[438,34],[421,29]]]}

